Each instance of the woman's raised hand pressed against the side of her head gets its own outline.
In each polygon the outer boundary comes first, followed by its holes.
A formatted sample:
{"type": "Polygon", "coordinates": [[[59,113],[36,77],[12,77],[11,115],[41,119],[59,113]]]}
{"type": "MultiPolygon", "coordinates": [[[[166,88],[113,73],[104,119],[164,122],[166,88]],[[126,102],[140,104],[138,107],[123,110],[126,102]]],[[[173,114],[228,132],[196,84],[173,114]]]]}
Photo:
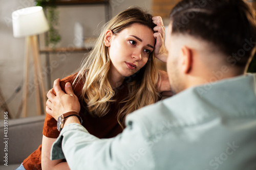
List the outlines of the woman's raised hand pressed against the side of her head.
{"type": "Polygon", "coordinates": [[[163,25],[163,20],[161,16],[154,16],[152,20],[155,23],[155,25],[157,25],[154,28],[154,31],[155,31],[154,37],[156,38],[154,54],[156,58],[166,63],[168,54],[164,46],[165,28],[163,25]]]}

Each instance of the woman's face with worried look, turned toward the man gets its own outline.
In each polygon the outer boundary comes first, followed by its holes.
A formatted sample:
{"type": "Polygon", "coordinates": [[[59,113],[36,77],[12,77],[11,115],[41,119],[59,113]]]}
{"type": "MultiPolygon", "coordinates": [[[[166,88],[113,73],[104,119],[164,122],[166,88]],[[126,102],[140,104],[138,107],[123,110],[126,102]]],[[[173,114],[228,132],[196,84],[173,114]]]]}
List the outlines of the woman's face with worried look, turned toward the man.
{"type": "Polygon", "coordinates": [[[142,68],[154,50],[153,31],[139,23],[133,23],[118,34],[108,30],[105,45],[109,47],[111,75],[116,79],[129,77],[142,68]]]}

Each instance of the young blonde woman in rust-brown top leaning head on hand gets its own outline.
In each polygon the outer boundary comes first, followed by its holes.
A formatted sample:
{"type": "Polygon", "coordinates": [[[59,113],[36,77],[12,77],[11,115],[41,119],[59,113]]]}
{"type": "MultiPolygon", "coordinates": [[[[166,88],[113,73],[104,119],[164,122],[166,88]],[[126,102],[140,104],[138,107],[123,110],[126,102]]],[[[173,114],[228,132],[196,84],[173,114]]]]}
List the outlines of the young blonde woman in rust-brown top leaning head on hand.
{"type": "MultiPolygon", "coordinates": [[[[60,82],[63,90],[67,82],[72,84],[82,125],[91,134],[116,136],[127,114],[157,102],[160,92],[170,90],[166,74],[155,65],[155,56],[166,60],[163,37],[161,17],[152,19],[139,8],[129,8],[106,23],[79,71],[60,82]]],[[[69,169],[63,160],[50,160],[59,132],[56,120],[48,114],[43,135],[42,145],[24,160],[24,168],[69,169]]]]}

